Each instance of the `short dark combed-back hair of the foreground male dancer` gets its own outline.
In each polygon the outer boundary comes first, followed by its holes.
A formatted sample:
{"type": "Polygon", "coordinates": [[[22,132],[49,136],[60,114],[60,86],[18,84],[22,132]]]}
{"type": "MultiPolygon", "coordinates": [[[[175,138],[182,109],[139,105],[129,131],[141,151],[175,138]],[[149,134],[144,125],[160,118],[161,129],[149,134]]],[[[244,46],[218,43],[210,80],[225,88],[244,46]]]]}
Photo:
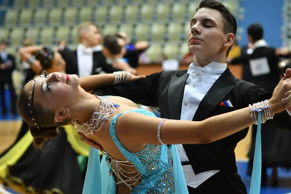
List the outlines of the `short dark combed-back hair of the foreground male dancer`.
{"type": "MultiPolygon", "coordinates": [[[[198,11],[201,8],[209,8],[217,10],[221,13],[223,16],[223,23],[224,23],[224,33],[233,33],[236,34],[238,25],[236,22],[235,17],[226,9],[226,7],[216,0],[202,0],[197,7],[196,11],[198,11]]],[[[232,45],[227,49],[226,56],[228,56],[228,53],[231,49],[232,45]]]]}

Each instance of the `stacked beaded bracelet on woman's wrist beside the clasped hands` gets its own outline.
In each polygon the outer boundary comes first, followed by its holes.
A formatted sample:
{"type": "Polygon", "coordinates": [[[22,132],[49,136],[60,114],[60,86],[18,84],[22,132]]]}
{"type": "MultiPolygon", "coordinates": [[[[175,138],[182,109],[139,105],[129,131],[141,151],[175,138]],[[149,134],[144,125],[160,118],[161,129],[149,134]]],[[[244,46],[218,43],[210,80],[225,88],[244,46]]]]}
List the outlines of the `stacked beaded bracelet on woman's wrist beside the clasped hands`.
{"type": "Polygon", "coordinates": [[[258,102],[256,104],[253,104],[252,106],[249,104],[251,117],[256,125],[258,125],[258,114],[259,112],[262,112],[262,118],[261,122],[265,123],[267,120],[273,119],[274,114],[271,114],[271,109],[269,107],[268,100],[264,100],[261,102],[258,102]]]}

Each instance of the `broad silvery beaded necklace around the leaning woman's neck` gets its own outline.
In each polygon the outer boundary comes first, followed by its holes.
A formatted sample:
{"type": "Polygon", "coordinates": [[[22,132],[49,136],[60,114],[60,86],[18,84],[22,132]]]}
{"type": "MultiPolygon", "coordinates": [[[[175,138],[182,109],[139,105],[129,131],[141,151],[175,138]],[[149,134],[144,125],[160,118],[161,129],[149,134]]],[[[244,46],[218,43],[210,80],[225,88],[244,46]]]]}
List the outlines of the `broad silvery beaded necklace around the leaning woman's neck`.
{"type": "Polygon", "coordinates": [[[105,97],[96,97],[100,99],[100,106],[92,114],[91,119],[82,125],[78,124],[76,120],[73,120],[76,131],[81,132],[84,135],[93,135],[94,131],[100,130],[103,127],[105,121],[108,120],[108,117],[114,114],[115,107],[120,106],[105,97]]]}

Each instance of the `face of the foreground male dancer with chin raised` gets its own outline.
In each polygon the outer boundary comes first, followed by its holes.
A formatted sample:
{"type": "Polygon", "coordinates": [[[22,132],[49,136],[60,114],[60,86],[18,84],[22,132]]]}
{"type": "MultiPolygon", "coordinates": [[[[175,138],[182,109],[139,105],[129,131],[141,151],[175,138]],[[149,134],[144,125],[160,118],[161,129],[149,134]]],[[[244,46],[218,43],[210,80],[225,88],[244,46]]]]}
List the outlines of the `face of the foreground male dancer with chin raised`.
{"type": "Polygon", "coordinates": [[[190,27],[188,49],[198,58],[212,56],[227,49],[224,43],[228,34],[223,32],[223,16],[219,11],[199,9],[191,20],[190,27]]]}

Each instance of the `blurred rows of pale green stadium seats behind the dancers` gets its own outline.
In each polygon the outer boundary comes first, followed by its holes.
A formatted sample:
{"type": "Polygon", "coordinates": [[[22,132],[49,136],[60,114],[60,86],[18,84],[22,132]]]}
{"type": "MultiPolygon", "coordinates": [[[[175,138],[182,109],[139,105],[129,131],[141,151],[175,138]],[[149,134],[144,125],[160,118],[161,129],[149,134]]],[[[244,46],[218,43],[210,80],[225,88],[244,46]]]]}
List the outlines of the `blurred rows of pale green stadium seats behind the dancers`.
{"type": "MultiPolygon", "coordinates": [[[[179,58],[187,52],[189,21],[200,0],[15,0],[7,9],[0,39],[9,39],[19,48],[26,37],[37,44],[56,46],[65,40],[78,43],[76,27],[92,21],[103,35],[124,31],[133,40],[151,42],[147,54],[160,60],[179,58]],[[185,46],[186,45],[186,46],[185,46]]],[[[224,0],[238,14],[239,0],[224,0]]]]}

